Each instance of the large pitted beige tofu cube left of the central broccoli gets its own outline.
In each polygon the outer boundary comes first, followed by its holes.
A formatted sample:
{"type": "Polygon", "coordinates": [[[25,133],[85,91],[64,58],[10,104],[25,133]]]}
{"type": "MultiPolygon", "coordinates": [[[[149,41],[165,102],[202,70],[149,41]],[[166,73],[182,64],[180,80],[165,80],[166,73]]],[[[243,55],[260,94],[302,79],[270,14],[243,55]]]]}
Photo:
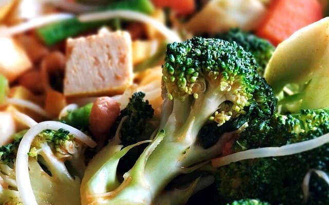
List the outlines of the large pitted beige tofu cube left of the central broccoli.
{"type": "Polygon", "coordinates": [[[64,94],[96,96],[122,93],[133,83],[132,42],[123,31],[66,42],[64,94]]]}

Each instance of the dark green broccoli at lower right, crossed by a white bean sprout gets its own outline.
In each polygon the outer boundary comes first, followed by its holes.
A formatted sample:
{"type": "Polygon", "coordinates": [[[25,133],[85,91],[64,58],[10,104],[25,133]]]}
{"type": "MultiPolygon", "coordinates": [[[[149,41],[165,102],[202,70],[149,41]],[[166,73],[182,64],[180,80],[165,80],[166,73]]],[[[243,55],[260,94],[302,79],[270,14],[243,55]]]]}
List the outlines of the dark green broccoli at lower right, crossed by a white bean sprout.
{"type": "MultiPolygon", "coordinates": [[[[255,119],[232,146],[232,152],[280,147],[314,139],[329,132],[329,109],[302,110],[293,115],[255,119]]],[[[218,193],[225,202],[242,197],[272,204],[302,204],[302,183],[311,169],[329,172],[329,145],[294,155],[242,160],[218,168],[218,193]]],[[[312,174],[307,204],[328,204],[329,188],[312,174]]]]}

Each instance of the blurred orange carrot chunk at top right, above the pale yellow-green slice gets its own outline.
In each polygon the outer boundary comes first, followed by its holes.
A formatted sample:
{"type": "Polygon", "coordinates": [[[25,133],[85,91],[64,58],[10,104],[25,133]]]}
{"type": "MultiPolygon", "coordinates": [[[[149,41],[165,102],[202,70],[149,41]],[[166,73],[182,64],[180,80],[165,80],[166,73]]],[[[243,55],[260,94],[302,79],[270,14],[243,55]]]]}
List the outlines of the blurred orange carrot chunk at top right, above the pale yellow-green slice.
{"type": "Polygon", "coordinates": [[[322,18],[317,0],[275,0],[256,34],[278,45],[295,31],[322,18]]]}

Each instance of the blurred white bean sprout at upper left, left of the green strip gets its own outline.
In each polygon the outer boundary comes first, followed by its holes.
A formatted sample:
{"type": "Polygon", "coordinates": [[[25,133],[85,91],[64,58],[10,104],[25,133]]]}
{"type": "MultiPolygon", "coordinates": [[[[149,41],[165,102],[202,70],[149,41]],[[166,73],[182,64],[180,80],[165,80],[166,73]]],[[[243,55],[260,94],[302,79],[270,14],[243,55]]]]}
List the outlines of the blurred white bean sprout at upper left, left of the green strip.
{"type": "Polygon", "coordinates": [[[60,20],[72,18],[74,15],[68,13],[58,13],[58,14],[49,14],[46,16],[32,18],[25,23],[21,23],[16,26],[11,27],[0,27],[0,36],[10,36],[19,33],[23,33],[25,31],[38,28],[47,24],[51,24],[54,22],[59,22],[60,20]]]}

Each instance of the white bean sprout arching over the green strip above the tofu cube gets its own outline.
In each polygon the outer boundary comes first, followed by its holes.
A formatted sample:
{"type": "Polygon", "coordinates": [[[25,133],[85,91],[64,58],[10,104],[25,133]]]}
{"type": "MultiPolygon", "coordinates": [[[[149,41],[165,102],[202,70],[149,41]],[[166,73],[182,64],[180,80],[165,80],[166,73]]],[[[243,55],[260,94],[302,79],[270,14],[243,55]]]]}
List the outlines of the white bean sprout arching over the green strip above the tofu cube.
{"type": "Polygon", "coordinates": [[[78,16],[81,22],[94,22],[96,20],[106,20],[110,18],[124,18],[129,20],[139,20],[145,24],[152,25],[170,42],[181,42],[181,38],[165,25],[161,24],[154,18],[136,11],[129,10],[115,10],[115,11],[101,11],[89,14],[82,14],[78,16]]]}

